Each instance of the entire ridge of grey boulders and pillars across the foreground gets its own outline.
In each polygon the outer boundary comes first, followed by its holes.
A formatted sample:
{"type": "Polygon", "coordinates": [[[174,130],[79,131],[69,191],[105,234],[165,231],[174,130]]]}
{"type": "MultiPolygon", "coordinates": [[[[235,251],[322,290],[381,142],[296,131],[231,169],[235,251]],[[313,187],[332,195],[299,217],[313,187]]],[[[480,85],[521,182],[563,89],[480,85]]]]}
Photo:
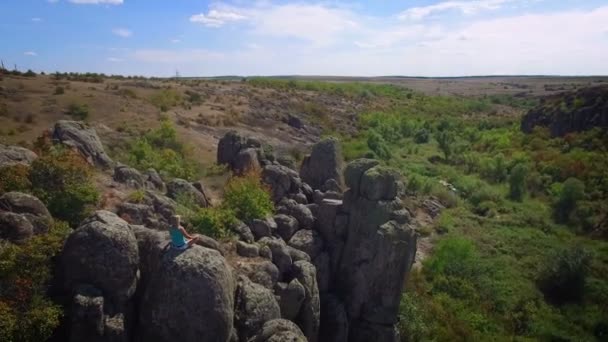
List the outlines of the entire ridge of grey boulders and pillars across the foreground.
{"type": "MultiPolygon", "coordinates": [[[[61,137],[66,124],[58,125],[53,135],[61,137]]],[[[81,128],[88,143],[68,145],[100,168],[113,165],[95,131],[81,128]]],[[[343,168],[331,139],[313,148],[299,173],[234,132],[220,140],[217,157],[237,173],[259,169],[276,215],[238,223],[234,243],[203,237],[176,251],[168,248],[166,230],[176,209],[171,197],[185,193],[208,206],[203,186],[165,184],[153,170],[116,166],[114,179],[143,189],[145,198],[119,204],[116,213],[95,212],[66,241],[59,266],[71,298],[66,338],[398,341],[398,305],[416,251],[399,175],[373,160],[343,168]]],[[[5,225],[2,238],[18,231],[20,241],[44,231],[32,222],[50,215],[27,196],[0,198],[0,215],[18,216],[26,226],[5,225]]]]}

